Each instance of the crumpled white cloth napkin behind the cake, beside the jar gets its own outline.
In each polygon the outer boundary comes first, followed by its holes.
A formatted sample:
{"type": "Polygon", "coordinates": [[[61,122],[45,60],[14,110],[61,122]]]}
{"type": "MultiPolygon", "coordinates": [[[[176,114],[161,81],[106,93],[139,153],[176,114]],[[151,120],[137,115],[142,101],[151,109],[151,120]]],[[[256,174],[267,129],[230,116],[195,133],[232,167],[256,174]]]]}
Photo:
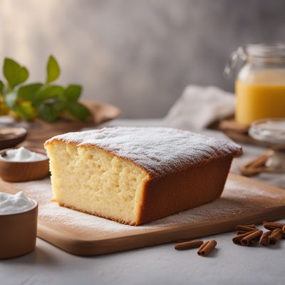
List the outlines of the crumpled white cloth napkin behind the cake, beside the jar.
{"type": "Polygon", "coordinates": [[[164,125],[185,130],[202,130],[214,121],[234,114],[234,95],[214,86],[187,86],[170,108],[164,125]]]}

